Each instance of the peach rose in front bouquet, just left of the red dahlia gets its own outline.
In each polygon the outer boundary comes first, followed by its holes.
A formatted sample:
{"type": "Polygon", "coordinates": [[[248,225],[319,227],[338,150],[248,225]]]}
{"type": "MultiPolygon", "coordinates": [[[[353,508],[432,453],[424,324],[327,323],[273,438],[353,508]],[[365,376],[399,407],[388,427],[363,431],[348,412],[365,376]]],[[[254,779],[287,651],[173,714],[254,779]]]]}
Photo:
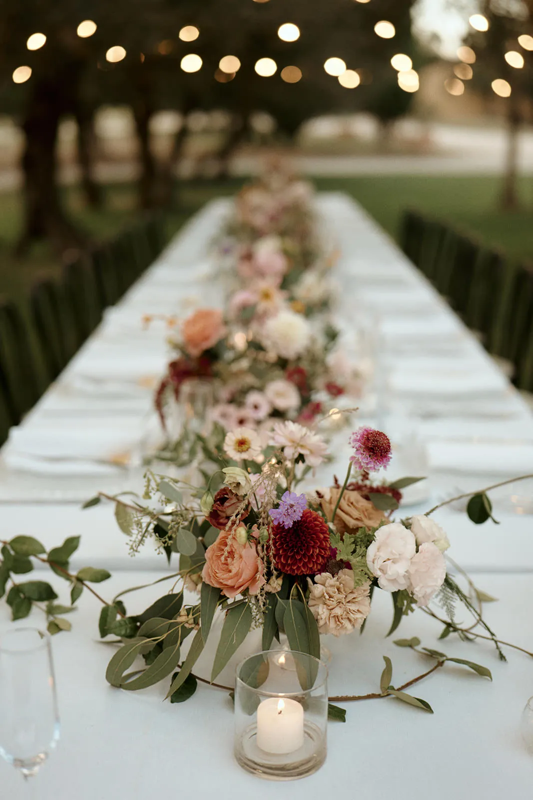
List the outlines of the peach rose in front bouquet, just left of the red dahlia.
{"type": "Polygon", "coordinates": [[[227,598],[234,598],[245,589],[257,594],[265,583],[263,569],[255,544],[241,544],[235,531],[221,530],[217,541],[205,551],[201,575],[209,586],[216,586],[227,598]]]}

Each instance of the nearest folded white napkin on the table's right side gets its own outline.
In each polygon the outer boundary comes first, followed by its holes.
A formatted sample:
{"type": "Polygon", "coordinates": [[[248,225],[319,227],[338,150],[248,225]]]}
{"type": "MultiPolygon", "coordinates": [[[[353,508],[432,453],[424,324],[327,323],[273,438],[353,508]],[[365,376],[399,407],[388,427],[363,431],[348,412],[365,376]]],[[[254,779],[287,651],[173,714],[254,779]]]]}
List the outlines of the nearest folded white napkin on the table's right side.
{"type": "Polygon", "coordinates": [[[429,442],[433,470],[508,477],[533,474],[533,445],[429,442]]]}

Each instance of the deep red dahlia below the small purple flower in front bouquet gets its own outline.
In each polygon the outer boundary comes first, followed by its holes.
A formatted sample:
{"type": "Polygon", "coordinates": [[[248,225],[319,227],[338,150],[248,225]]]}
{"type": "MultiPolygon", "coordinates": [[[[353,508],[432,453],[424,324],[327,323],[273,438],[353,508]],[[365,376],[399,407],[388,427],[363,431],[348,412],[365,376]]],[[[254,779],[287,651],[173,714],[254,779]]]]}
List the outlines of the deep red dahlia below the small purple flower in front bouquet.
{"type": "Polygon", "coordinates": [[[315,575],[330,558],[329,529],[316,511],[305,509],[292,527],[272,526],[276,567],[288,575],[315,575]]]}

